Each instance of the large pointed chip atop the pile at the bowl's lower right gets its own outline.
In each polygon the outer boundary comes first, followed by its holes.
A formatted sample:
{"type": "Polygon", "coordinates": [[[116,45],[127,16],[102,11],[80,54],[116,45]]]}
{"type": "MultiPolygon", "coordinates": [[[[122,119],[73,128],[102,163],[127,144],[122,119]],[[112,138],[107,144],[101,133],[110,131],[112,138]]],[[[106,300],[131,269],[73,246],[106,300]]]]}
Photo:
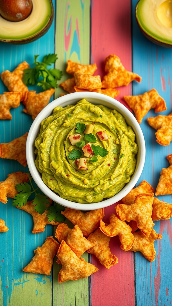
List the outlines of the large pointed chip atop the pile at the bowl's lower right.
{"type": "Polygon", "coordinates": [[[136,221],[141,232],[143,232],[146,236],[149,236],[153,226],[155,225],[151,218],[152,203],[154,199],[153,196],[153,192],[141,193],[135,197],[133,204],[118,204],[116,206],[118,217],[122,221],[136,221]]]}

